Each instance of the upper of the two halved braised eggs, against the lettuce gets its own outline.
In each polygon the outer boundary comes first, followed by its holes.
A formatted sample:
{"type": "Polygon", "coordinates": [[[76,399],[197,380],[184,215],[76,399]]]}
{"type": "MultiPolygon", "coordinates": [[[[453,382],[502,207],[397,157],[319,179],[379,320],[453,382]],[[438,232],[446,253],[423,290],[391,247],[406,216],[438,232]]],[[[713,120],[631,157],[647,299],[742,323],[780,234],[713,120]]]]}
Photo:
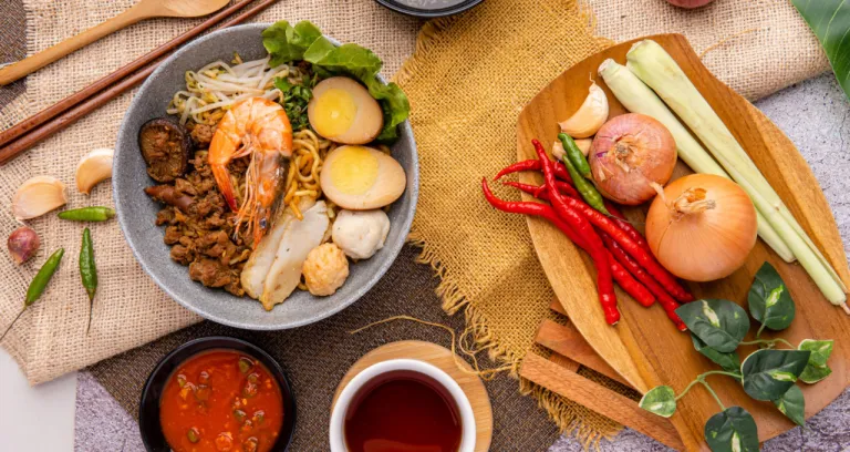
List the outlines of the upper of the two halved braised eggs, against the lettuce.
{"type": "Polygon", "coordinates": [[[343,144],[366,144],[381,133],[384,113],[369,91],[346,76],[322,80],[307,105],[310,125],[319,135],[343,144]]]}

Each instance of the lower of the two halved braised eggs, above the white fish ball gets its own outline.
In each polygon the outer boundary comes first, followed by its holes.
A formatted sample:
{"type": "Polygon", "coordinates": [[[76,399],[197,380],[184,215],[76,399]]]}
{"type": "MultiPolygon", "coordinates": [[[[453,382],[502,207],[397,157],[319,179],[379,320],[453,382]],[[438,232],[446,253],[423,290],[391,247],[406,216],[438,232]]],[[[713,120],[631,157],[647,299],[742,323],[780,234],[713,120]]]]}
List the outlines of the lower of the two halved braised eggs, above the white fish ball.
{"type": "Polygon", "coordinates": [[[349,210],[381,208],[398,199],[407,185],[395,158],[366,146],[340,146],[324,160],[322,192],[349,210]]]}

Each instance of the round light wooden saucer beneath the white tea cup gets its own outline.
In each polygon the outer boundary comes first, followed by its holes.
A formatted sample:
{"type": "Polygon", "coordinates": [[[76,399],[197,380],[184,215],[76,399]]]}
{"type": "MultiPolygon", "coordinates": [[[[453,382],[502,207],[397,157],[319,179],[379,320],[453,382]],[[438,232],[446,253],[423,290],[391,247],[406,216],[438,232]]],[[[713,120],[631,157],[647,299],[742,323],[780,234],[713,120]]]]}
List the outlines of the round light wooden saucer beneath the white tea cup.
{"type": "MultiPolygon", "coordinates": [[[[342,378],[340,386],[336,387],[336,393],[333,394],[333,404],[336,404],[336,399],[340,397],[343,388],[349,384],[349,381],[363,369],[379,362],[401,358],[425,361],[438,367],[455,379],[469,399],[469,404],[473,407],[475,428],[478,433],[475,439],[475,451],[487,452],[490,449],[490,440],[493,439],[493,408],[490,407],[490,398],[487,396],[487,389],[484,387],[481,379],[477,376],[465,373],[457,368],[455,359],[452,356],[452,350],[435,343],[421,340],[402,340],[381,346],[370,351],[364,355],[363,358],[357,360],[357,362],[349,369],[349,372],[345,373],[345,377],[342,378]]],[[[460,362],[466,370],[473,370],[466,361],[460,360],[460,362]]]]}

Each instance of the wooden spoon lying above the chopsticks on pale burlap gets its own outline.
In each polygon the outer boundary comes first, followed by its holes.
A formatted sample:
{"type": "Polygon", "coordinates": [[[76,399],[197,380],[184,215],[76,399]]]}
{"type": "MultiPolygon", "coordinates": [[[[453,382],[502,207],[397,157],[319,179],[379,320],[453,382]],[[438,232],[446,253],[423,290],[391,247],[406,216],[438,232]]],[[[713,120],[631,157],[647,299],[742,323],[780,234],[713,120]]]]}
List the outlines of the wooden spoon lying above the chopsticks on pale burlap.
{"type": "Polygon", "coordinates": [[[149,18],[196,18],[224,8],[229,0],[141,0],[131,9],[92,29],[69,38],[34,55],[0,69],[0,85],[7,85],[94,41],[149,18]]]}

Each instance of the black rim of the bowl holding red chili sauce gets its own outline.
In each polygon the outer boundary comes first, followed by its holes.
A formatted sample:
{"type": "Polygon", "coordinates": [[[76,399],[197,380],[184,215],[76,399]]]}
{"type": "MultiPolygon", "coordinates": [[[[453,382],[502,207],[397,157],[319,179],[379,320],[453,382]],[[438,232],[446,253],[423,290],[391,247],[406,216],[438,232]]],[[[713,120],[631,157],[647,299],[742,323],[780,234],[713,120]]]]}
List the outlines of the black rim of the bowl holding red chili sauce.
{"type": "Polygon", "coordinates": [[[190,340],[174,351],[166,355],[154,368],[142,390],[142,400],[138,403],[138,430],[142,433],[142,442],[151,452],[168,452],[170,446],[165,441],[159,423],[159,397],[168,382],[168,378],[187,359],[210,350],[235,350],[255,358],[274,376],[283,399],[283,424],[278,432],[278,441],[272,451],[282,452],[289,448],[292,433],[296,430],[296,399],[292,387],[286,372],[269,353],[253,343],[226,336],[211,336],[190,340]]]}

